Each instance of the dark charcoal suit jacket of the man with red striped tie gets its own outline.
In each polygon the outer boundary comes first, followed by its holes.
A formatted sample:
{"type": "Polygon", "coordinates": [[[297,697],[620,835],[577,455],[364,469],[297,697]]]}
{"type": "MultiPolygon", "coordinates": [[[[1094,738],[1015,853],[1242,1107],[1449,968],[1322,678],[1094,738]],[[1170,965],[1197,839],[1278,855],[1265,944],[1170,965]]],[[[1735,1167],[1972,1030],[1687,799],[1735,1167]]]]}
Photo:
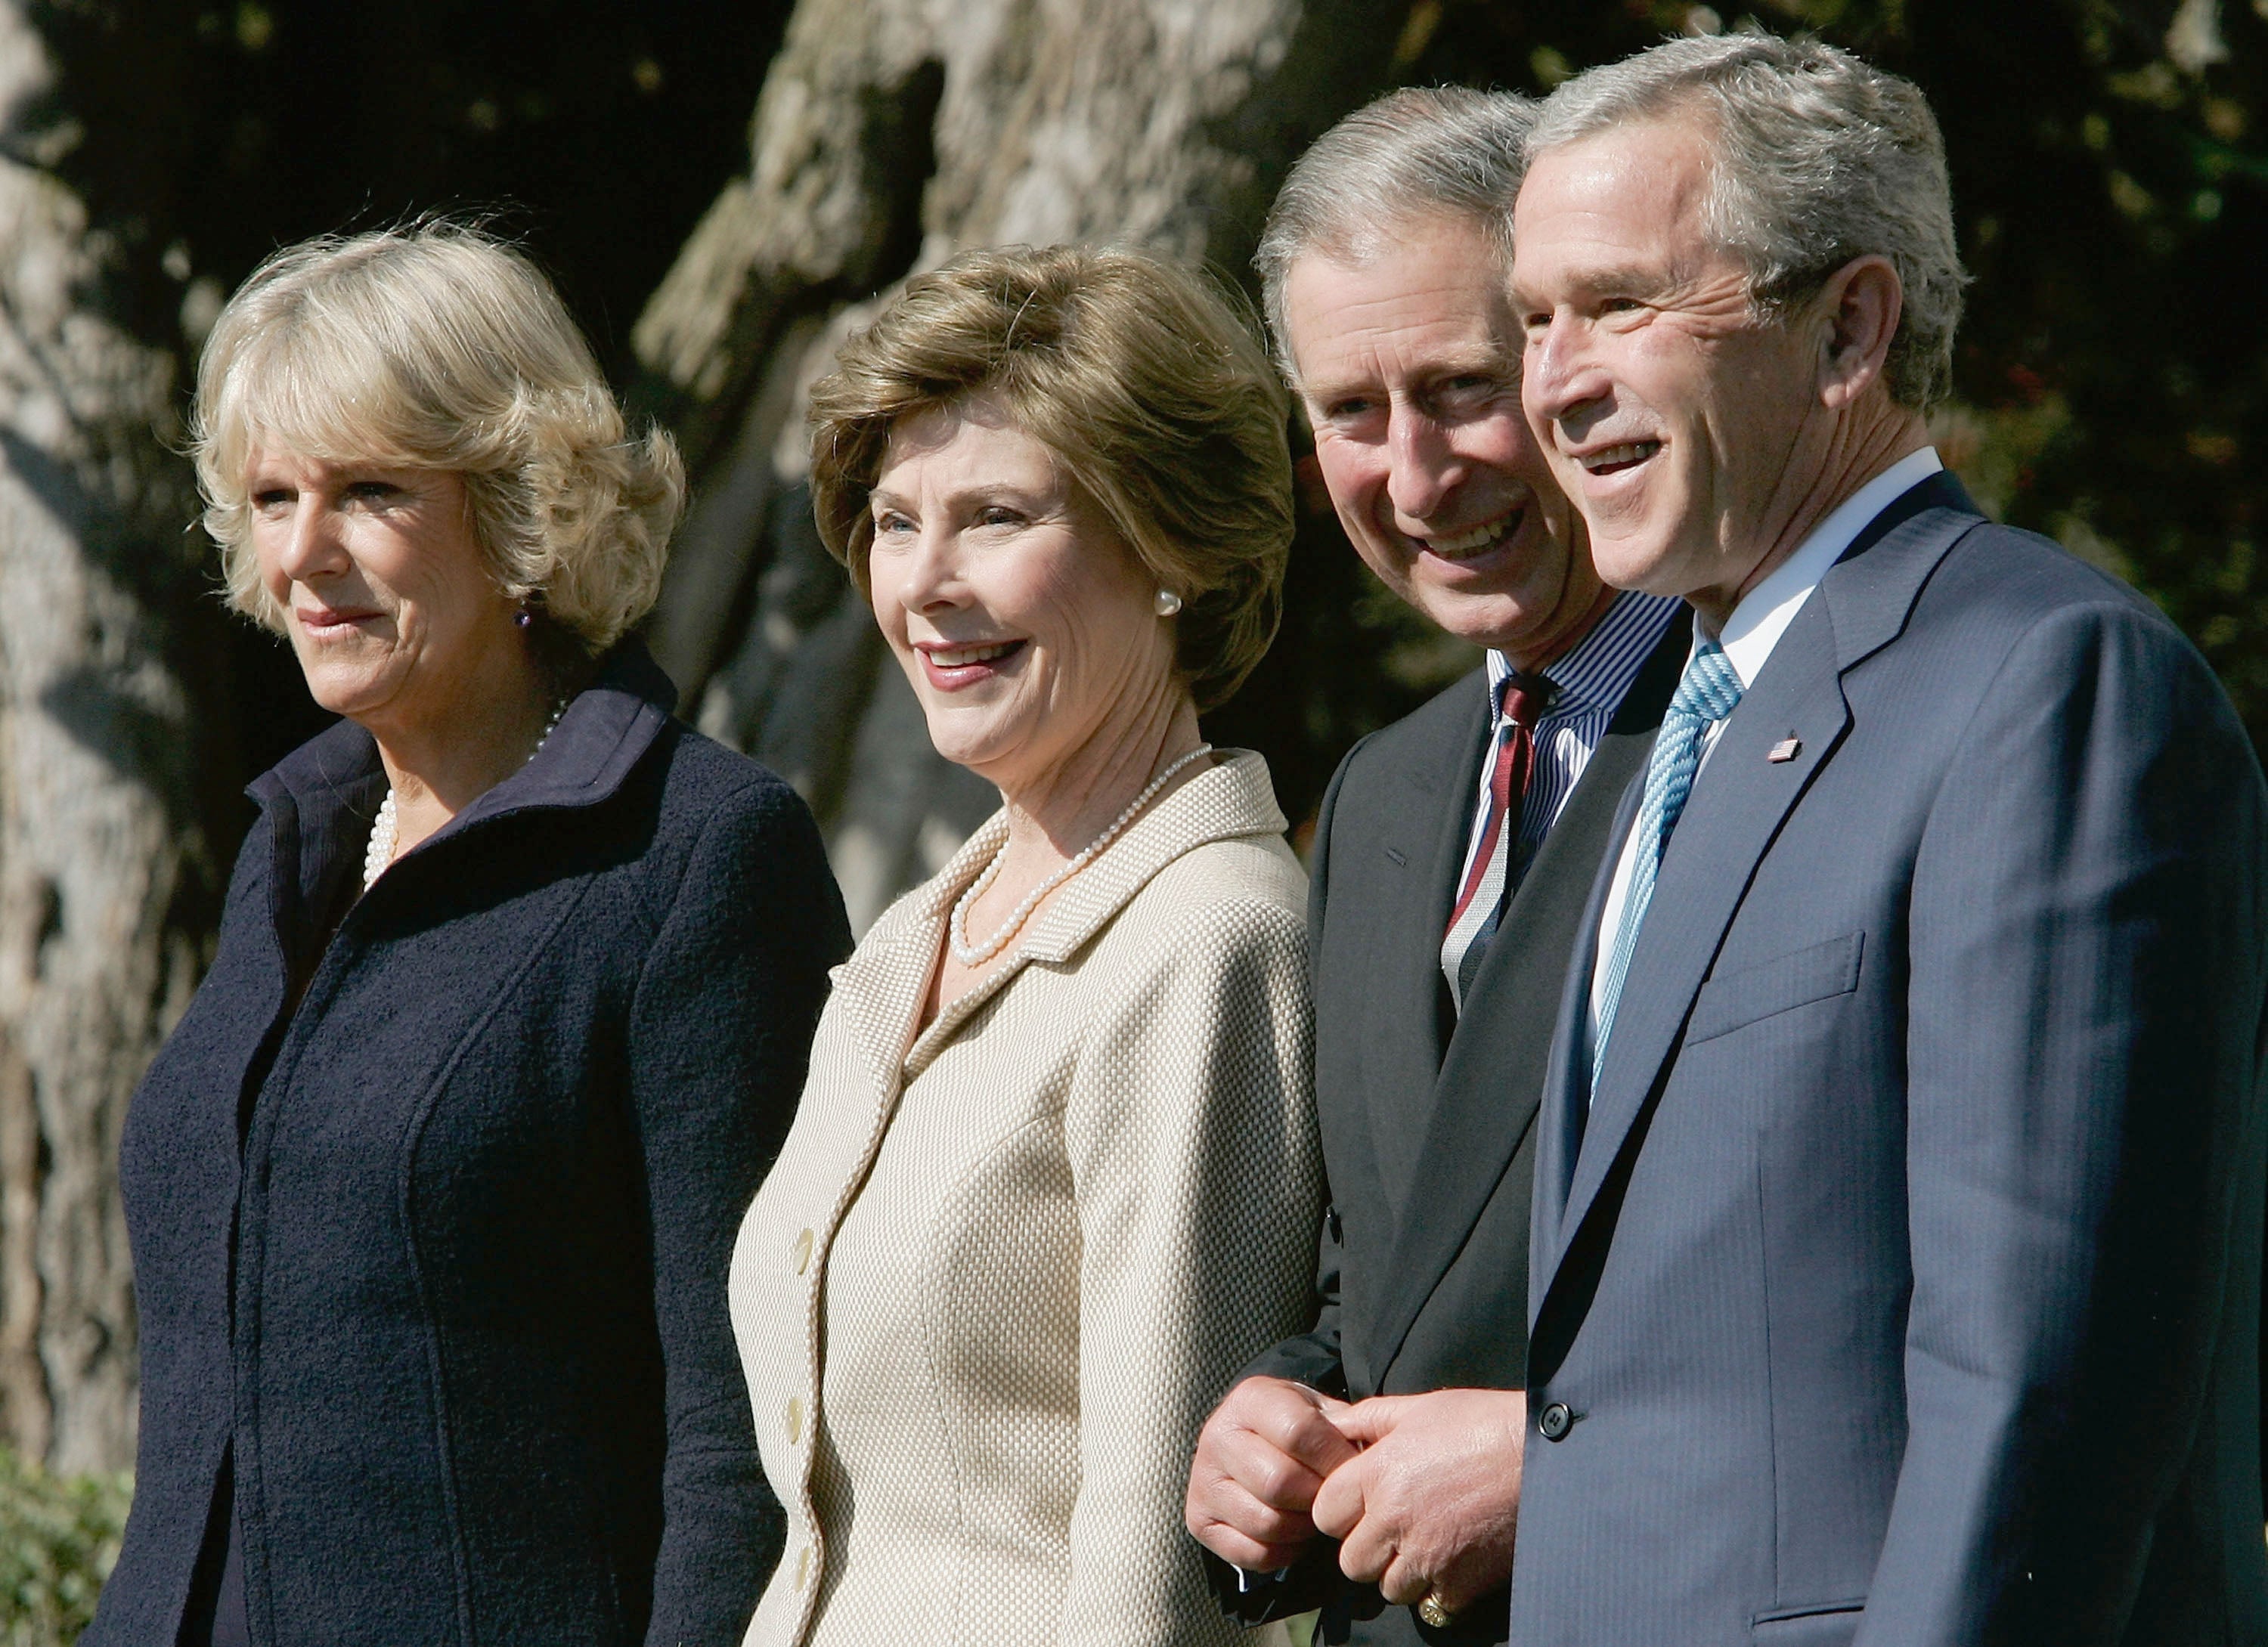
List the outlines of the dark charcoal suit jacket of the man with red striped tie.
{"type": "MultiPolygon", "coordinates": [[[[1461,1019],[1447,1005],[1440,937],[1481,783],[1483,676],[1340,762],[1309,864],[1315,1112],[1331,1184],[1320,1314],[1243,1377],[1300,1379],[1349,1400],[1526,1384],[1533,1121],[1560,980],[1615,803],[1653,746],[1690,633],[1672,622],[1633,678],[1513,894],[1461,1019]]],[[[1222,1597],[1236,1597],[1234,1572],[1209,1565],[1222,1597]]],[[[1238,1602],[1245,1618],[1322,1606],[1325,1642],[1504,1640],[1501,1593],[1433,1631],[1372,1586],[1347,1583],[1329,1543],[1288,1583],[1238,1602]]]]}

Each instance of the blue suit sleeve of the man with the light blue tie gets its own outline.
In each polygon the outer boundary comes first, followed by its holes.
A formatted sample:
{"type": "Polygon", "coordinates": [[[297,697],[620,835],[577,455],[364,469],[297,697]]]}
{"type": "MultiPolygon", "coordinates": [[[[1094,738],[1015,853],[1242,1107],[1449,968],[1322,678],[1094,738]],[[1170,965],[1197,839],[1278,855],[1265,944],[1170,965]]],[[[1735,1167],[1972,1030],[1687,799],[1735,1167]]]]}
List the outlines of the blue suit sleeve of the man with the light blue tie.
{"type": "MultiPolygon", "coordinates": [[[[1867,1647],[2125,1640],[2152,1529],[2236,1452],[2261,839],[2227,701],[2125,606],[2032,628],[1950,751],[1912,880],[1907,1438],[1867,1647]]],[[[2207,1513],[2257,1563],[2250,1506],[2207,1513]]]]}

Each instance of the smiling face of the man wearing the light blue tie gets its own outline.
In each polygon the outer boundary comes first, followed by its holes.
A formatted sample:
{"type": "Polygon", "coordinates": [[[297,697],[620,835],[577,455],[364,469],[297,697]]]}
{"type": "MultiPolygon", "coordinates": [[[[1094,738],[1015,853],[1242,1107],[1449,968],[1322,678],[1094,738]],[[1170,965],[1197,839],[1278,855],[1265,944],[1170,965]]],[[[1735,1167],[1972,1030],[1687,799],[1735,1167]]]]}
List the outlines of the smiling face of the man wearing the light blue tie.
{"type": "Polygon", "coordinates": [[[1545,150],[1513,216],[1524,395],[1601,576],[1724,617],[1830,461],[1812,329],[1751,313],[1699,120],[1545,150]]]}

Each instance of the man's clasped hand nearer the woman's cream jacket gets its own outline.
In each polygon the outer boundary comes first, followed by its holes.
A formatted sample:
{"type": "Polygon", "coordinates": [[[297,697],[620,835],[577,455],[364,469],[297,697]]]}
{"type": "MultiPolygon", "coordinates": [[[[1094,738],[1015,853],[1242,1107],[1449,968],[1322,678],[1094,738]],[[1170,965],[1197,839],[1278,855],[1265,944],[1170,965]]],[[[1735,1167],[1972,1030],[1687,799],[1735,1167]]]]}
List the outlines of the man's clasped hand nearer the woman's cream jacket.
{"type": "Polygon", "coordinates": [[[1198,1431],[1188,1466],[1191,1536],[1247,1572],[1297,1561],[1315,1536],[1309,1506],[1356,1447],[1334,1427],[1354,1411],[1306,1384],[1252,1377],[1198,1431]]]}

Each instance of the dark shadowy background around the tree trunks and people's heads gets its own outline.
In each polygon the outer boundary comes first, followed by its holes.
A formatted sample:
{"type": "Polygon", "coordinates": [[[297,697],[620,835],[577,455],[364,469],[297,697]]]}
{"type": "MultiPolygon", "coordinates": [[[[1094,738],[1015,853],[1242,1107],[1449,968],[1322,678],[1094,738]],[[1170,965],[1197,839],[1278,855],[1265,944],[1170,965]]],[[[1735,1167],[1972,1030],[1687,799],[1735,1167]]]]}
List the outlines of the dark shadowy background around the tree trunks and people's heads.
{"type": "MultiPolygon", "coordinates": [[[[2261,134],[2268,0],[1785,0],[1755,16],[1853,45],[1930,93],[1975,274],[1941,449],[2000,517],[2146,588],[2268,737],[2257,565],[2268,415],[2261,134]],[[2202,27],[2200,27],[2202,23],[2202,27]],[[2216,50],[2218,48],[2218,50],[2216,50]]],[[[628,331],[719,186],[780,0],[54,0],[64,175],[136,245],[134,324],[195,358],[218,299],[277,245],[417,211],[494,213],[558,277],[617,381],[628,331]],[[161,202],[152,206],[152,202],[161,202]]],[[[1420,0],[1402,82],[1540,93],[1681,27],[1690,5],[1420,0]]],[[[1227,270],[1247,279],[1247,270],[1227,270]]],[[[186,397],[186,386],[184,386],[186,397]]],[[[1306,817],[1363,730],[1467,656],[1359,569],[1304,467],[1288,619],[1211,717],[1306,817]]],[[[234,626],[215,665],[229,787],[320,717],[288,656],[234,626]]],[[[234,842],[213,842],[227,862],[234,842]]]]}

